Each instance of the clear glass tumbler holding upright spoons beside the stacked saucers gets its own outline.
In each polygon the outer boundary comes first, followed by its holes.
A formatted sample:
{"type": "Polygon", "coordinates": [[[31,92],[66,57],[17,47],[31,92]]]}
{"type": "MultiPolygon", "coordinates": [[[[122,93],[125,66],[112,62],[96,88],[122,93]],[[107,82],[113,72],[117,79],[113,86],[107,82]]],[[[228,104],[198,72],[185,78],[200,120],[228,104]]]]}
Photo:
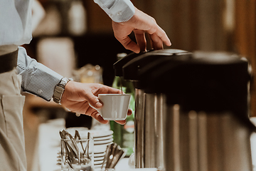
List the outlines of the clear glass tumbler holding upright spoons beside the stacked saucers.
{"type": "Polygon", "coordinates": [[[61,139],[61,170],[92,171],[93,145],[93,138],[61,139]]]}

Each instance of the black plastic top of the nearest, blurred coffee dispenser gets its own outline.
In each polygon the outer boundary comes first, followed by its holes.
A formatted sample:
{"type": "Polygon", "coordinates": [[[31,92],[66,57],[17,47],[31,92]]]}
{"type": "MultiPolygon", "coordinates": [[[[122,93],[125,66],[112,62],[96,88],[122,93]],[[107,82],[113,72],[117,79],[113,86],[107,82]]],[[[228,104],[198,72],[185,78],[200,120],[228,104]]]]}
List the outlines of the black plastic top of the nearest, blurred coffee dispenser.
{"type": "Polygon", "coordinates": [[[250,125],[247,113],[248,63],[233,53],[195,52],[150,63],[139,72],[146,93],[165,93],[182,110],[234,113],[250,125]]]}

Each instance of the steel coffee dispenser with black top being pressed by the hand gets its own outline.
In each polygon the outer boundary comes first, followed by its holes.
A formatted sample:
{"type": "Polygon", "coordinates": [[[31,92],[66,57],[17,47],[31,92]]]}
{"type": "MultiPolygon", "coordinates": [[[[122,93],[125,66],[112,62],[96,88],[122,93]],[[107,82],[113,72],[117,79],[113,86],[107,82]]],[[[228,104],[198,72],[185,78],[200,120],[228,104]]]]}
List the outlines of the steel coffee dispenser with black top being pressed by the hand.
{"type": "MultiPolygon", "coordinates": [[[[155,93],[146,94],[144,90],[140,88],[138,81],[139,71],[144,68],[148,63],[158,61],[160,58],[171,58],[171,56],[180,56],[186,54],[187,51],[178,49],[166,49],[160,51],[149,51],[141,54],[131,53],[127,57],[123,58],[117,63],[114,63],[114,69],[116,76],[124,76],[124,79],[133,81],[135,90],[135,165],[137,168],[154,167],[155,165],[164,166],[163,155],[163,140],[162,134],[163,119],[156,117],[158,131],[154,131],[155,118],[151,115],[156,115],[165,110],[165,96],[163,94],[157,95],[155,93]],[[120,70],[122,68],[122,70],[120,70]],[[122,72],[121,72],[122,71],[122,72]],[[156,134],[154,134],[154,132],[156,134]],[[152,134],[151,134],[152,133],[152,134]],[[152,139],[158,136],[159,138],[153,141],[145,142],[147,139],[152,139]],[[153,142],[153,143],[151,143],[153,142]],[[158,149],[158,150],[156,150],[158,149]],[[156,157],[155,150],[159,152],[156,157]]],[[[164,116],[164,115],[163,115],[164,116]]]]}

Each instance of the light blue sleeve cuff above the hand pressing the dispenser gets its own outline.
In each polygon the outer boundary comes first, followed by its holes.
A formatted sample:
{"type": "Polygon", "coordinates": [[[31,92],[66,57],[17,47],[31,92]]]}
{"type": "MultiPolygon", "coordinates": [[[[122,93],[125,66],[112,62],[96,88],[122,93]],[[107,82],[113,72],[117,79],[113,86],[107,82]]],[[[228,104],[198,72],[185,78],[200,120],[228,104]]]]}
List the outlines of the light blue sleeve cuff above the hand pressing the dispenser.
{"type": "Polygon", "coordinates": [[[134,5],[129,0],[94,0],[115,22],[124,22],[135,13],[134,5]]]}

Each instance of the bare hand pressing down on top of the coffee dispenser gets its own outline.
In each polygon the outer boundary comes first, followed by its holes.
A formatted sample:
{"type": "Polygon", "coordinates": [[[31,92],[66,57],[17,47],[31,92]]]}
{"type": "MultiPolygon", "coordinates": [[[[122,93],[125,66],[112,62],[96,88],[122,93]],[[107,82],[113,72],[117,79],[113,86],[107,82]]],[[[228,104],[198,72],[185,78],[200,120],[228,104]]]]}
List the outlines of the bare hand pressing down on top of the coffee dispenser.
{"type": "Polygon", "coordinates": [[[135,8],[135,14],[129,21],[124,23],[116,23],[112,21],[114,36],[122,43],[124,48],[139,53],[146,51],[146,38],[144,32],[149,33],[151,37],[151,45],[154,49],[162,49],[163,43],[166,46],[171,46],[171,41],[164,30],[156,24],[156,21],[151,16],[144,14],[142,11],[135,8]],[[129,34],[134,31],[137,43],[129,38],[129,34]]]}

